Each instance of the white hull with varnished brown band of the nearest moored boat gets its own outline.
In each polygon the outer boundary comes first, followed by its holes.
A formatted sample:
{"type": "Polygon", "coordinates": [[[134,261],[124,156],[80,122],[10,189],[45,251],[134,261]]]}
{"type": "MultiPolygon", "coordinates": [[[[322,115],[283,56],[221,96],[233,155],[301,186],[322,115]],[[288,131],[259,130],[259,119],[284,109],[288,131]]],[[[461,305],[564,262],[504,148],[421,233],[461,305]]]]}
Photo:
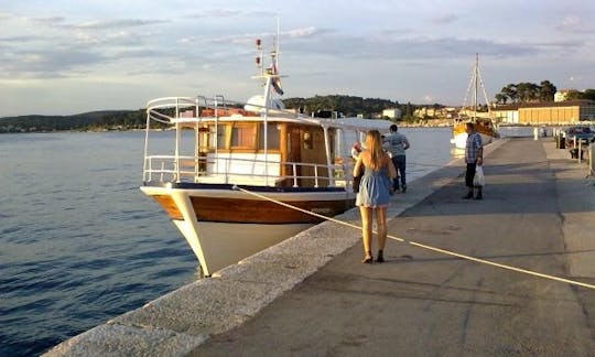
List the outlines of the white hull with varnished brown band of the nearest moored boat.
{"type": "MultiPolygon", "coordinates": [[[[324,218],[234,190],[231,186],[142,186],[180,229],[202,272],[214,272],[318,224],[324,218]]],[[[263,190],[258,195],[332,217],[354,207],[346,190],[263,190]]]]}

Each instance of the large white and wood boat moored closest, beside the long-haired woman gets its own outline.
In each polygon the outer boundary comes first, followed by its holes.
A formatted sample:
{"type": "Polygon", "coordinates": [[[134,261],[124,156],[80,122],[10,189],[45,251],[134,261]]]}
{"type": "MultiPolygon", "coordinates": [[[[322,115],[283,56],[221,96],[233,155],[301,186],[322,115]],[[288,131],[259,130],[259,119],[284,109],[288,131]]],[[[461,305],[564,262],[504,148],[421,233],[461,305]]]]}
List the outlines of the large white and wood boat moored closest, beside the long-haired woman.
{"type": "Polygon", "coordinates": [[[140,188],[163,207],[207,277],[324,220],[269,198],[324,216],[353,208],[351,145],[391,123],[285,110],[274,98],[282,93],[277,54],[266,69],[257,58],[264,89],[247,102],[198,96],[147,105],[140,188]],[[173,131],[155,131],[155,123],[173,131]],[[154,151],[153,136],[167,132],[172,148],[154,151]]]}

